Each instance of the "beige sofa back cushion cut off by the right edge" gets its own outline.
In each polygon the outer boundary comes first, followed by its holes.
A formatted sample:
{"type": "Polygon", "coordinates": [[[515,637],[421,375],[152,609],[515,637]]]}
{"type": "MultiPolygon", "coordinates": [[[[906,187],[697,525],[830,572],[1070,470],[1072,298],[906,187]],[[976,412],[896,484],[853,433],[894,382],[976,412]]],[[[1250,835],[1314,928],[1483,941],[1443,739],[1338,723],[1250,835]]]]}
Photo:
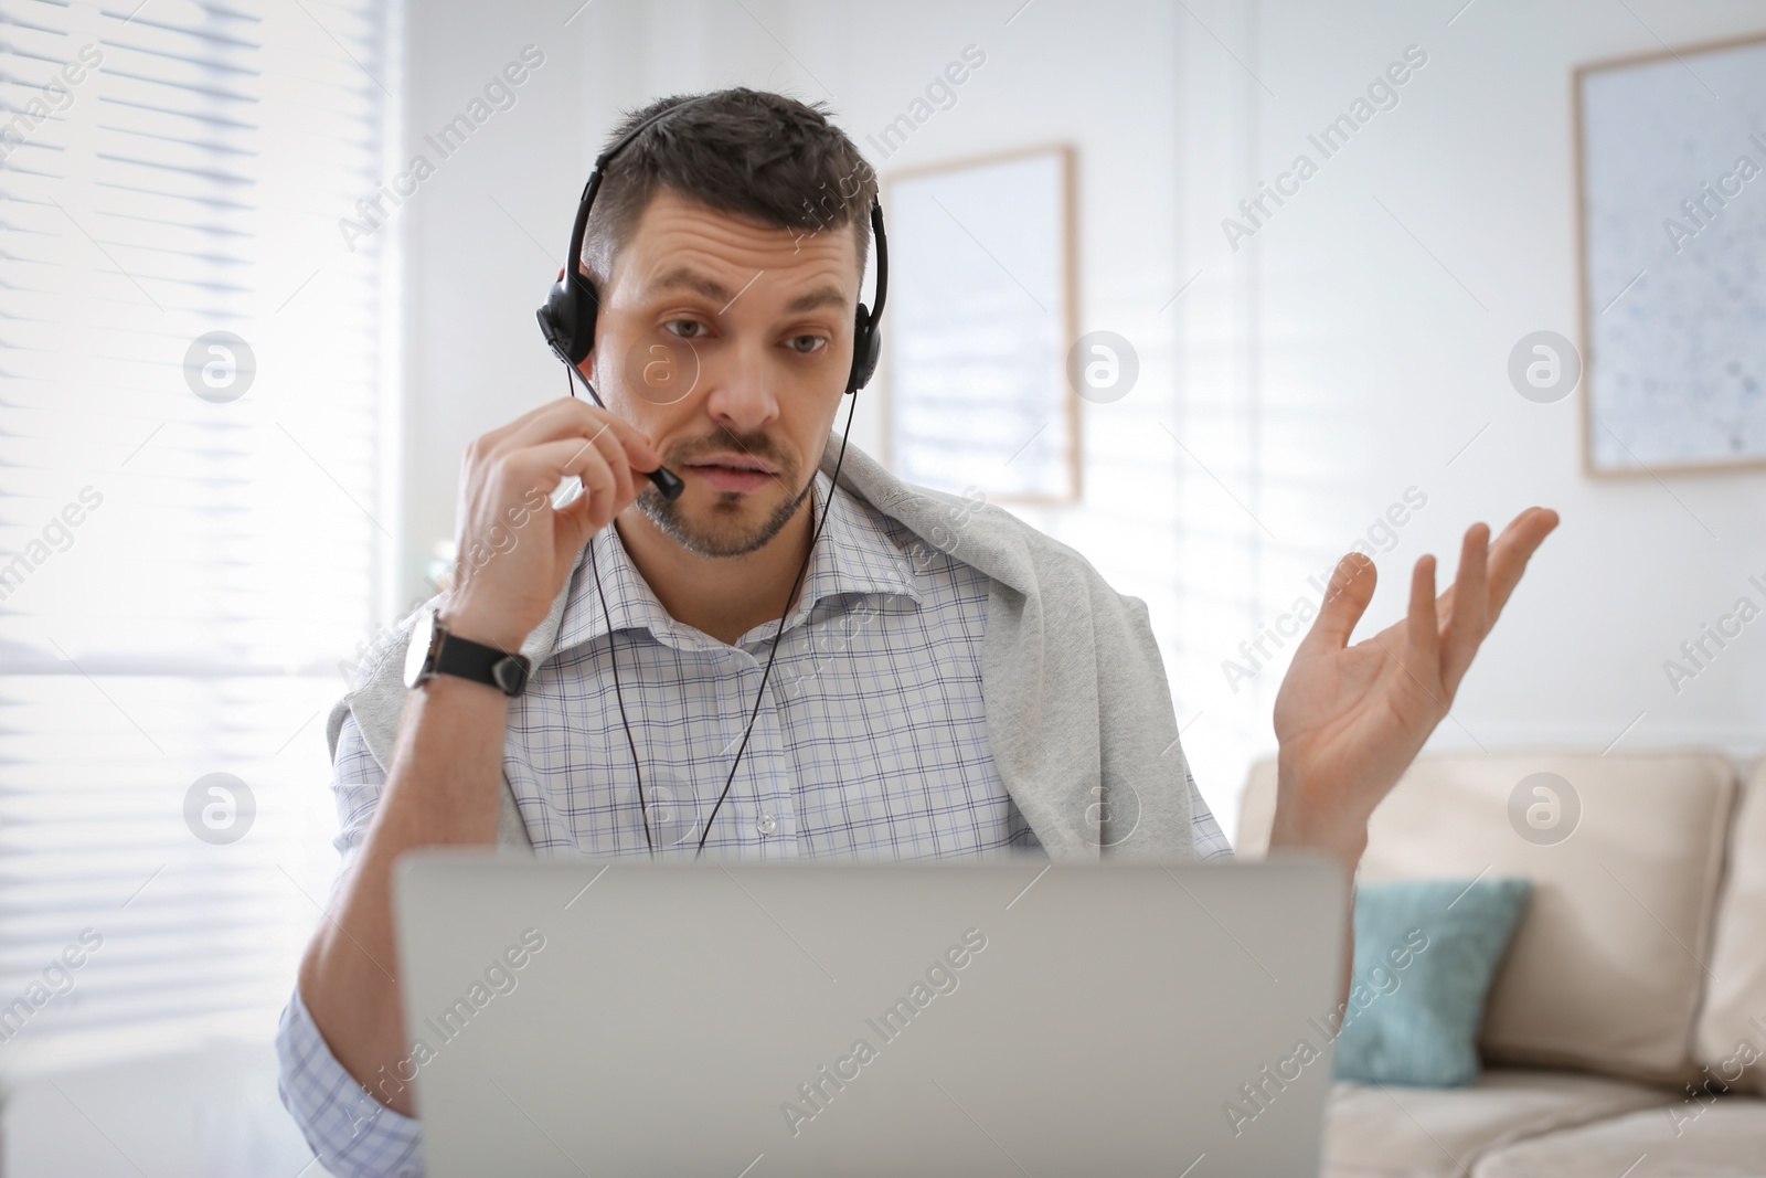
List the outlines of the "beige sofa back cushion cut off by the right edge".
{"type": "MultiPolygon", "coordinates": [[[[1715,1079],[1766,1095],[1766,758],[1754,763],[1729,834],[1724,890],[1717,901],[1711,978],[1694,1040],[1715,1079]]],[[[1762,1139],[1766,1141],[1766,1139],[1762,1139]]],[[[1761,1146],[1766,1171],[1766,1144],[1761,1146]]]]}

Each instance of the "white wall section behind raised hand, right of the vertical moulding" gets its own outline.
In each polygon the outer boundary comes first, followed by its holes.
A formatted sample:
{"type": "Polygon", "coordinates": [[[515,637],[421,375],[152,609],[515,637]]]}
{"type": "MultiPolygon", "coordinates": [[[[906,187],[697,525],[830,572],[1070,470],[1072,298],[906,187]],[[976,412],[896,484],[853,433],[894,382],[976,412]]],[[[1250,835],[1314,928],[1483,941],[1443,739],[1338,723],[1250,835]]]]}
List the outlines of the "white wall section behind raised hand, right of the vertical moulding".
{"type": "MultiPolygon", "coordinates": [[[[1577,337],[1572,69],[1761,32],[1766,11],[1575,0],[1476,4],[1453,19],[1462,4],[1261,5],[1256,69],[1275,95],[1257,92],[1263,177],[1408,44],[1429,53],[1399,108],[1240,254],[1259,286],[1263,503],[1279,537],[1266,546],[1264,611],[1409,486],[1429,505],[1383,565],[1381,622],[1397,615],[1418,553],[1441,553],[1450,569],[1464,525],[1547,503],[1563,528],[1438,744],[1600,751],[1626,733],[1616,751],[1757,752],[1766,634],[1745,631],[1678,696],[1662,662],[1766,570],[1766,477],[1591,480],[1579,464],[1581,394],[1524,401],[1506,357],[1536,328],[1577,337]]],[[[1259,706],[1268,701],[1263,692],[1259,706]]]]}

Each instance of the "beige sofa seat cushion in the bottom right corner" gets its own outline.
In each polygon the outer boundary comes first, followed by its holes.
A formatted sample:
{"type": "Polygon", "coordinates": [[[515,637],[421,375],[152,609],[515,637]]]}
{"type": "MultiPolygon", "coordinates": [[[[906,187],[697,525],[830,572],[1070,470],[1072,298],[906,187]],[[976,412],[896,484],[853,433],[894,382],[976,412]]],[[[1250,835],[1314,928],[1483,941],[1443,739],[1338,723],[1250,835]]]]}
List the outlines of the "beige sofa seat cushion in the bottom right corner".
{"type": "Polygon", "coordinates": [[[1644,1109],[1491,1152],[1471,1173],[1473,1178],[1766,1174],[1766,1100],[1724,1097],[1690,1121],[1671,1120],[1667,1109],[1644,1109]]]}

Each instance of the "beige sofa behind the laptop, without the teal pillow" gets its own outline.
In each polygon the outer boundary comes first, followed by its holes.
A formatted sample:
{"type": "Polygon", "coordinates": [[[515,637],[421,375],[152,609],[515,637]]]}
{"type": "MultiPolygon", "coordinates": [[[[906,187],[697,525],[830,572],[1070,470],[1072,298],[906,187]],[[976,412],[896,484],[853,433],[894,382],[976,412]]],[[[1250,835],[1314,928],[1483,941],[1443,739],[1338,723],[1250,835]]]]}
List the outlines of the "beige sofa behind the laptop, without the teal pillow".
{"type": "MultiPolygon", "coordinates": [[[[1264,855],[1273,812],[1264,761],[1240,858],[1264,855]]],[[[1485,998],[1480,1079],[1333,1083],[1321,1173],[1766,1174],[1766,759],[1420,758],[1374,812],[1358,880],[1478,876],[1533,881],[1485,998]]]]}

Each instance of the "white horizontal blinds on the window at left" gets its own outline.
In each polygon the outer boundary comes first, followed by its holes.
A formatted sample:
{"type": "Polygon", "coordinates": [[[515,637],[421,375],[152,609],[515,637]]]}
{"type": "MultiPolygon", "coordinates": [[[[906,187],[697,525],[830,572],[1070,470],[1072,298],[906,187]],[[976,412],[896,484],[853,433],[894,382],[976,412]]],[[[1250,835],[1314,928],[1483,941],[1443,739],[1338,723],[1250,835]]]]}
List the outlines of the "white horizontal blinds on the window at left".
{"type": "Polygon", "coordinates": [[[0,0],[0,1067],[267,1038],[327,899],[397,12],[0,0]]]}

